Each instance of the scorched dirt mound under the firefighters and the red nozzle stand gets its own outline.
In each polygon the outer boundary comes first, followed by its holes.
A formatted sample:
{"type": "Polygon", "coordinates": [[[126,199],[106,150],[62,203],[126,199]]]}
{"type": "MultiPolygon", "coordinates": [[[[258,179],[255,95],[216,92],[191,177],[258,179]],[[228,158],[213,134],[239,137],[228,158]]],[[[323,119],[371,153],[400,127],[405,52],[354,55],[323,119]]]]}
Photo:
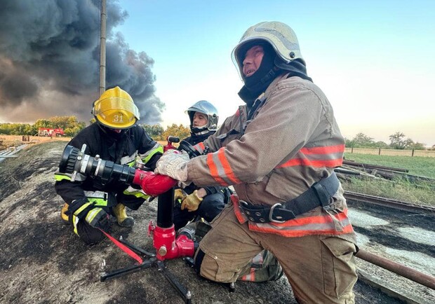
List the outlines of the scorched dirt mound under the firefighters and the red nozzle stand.
{"type": "MultiPolygon", "coordinates": [[[[18,158],[0,163],[0,303],[183,303],[157,268],[100,282],[106,271],[135,261],[103,240],[87,246],[60,221],[62,200],[53,188],[65,141],[29,145],[18,158]]],[[[153,251],[148,223],[156,219],[156,200],[130,212],[131,228],[112,219],[110,233],[153,251]]],[[[201,279],[181,258],[168,270],[192,291],[192,303],[295,303],[288,281],[237,282],[236,291],[201,279]]],[[[357,303],[398,303],[359,282],[357,303]]]]}

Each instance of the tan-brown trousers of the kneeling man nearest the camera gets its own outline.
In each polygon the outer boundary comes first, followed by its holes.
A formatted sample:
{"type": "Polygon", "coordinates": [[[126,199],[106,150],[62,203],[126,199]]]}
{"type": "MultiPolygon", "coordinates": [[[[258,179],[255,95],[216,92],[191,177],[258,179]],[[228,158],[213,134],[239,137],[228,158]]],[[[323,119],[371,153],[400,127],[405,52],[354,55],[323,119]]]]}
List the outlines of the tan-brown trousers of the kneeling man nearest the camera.
{"type": "MultiPolygon", "coordinates": [[[[338,236],[283,237],[257,233],[239,223],[229,203],[199,243],[200,275],[235,282],[262,249],[276,256],[298,303],[354,303],[356,245],[338,236]]],[[[196,256],[198,255],[196,251],[196,256]]]]}

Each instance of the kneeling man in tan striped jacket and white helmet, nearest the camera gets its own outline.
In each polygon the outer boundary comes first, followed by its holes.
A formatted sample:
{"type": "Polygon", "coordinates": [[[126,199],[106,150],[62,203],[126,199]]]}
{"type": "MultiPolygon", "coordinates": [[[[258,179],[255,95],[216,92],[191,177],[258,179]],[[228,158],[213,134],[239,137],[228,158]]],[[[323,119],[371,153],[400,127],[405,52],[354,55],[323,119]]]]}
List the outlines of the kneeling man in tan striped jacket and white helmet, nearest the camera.
{"type": "Polygon", "coordinates": [[[155,170],[185,184],[234,185],[237,196],[199,244],[196,269],[235,282],[268,249],[299,303],[354,303],[356,237],[334,173],[344,138],[332,106],[307,76],[288,25],[250,27],[232,55],[246,106],[203,143],[212,153],[186,160],[167,152],[155,170]]]}

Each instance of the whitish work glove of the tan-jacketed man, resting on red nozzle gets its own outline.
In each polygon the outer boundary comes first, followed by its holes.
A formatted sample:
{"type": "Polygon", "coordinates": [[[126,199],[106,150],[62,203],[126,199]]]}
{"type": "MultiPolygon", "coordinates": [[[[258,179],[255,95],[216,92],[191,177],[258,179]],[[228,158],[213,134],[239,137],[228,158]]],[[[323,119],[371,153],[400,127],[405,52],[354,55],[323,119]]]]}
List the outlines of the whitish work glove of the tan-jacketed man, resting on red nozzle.
{"type": "Polygon", "coordinates": [[[186,151],[170,149],[163,153],[157,161],[155,173],[168,175],[178,181],[187,181],[187,162],[189,155],[186,151]]]}

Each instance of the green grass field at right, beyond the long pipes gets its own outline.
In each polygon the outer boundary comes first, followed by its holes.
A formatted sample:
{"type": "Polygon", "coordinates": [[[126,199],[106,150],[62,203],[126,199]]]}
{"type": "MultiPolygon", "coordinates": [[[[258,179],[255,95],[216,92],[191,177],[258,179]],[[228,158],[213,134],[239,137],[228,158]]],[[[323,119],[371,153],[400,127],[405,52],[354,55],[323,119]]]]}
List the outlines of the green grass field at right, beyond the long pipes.
{"type": "MultiPolygon", "coordinates": [[[[409,170],[408,174],[435,179],[435,158],[410,156],[373,156],[368,154],[345,154],[346,160],[357,163],[381,165],[409,170]]],[[[345,191],[353,191],[413,202],[419,205],[435,205],[435,184],[433,182],[411,183],[397,178],[392,181],[373,178],[350,178],[342,182],[345,191]]]]}

